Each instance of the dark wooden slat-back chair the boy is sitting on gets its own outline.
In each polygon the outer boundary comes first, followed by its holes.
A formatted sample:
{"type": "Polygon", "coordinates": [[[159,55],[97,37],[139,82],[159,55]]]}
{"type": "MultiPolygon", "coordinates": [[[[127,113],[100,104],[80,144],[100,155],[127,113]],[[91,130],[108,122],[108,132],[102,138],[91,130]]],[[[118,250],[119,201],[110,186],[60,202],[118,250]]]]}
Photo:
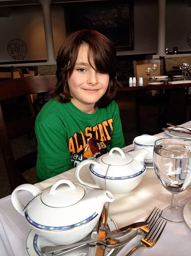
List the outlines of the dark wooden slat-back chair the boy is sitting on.
{"type": "Polygon", "coordinates": [[[27,183],[22,173],[36,166],[37,151],[19,159],[14,159],[11,139],[34,132],[36,115],[30,106],[31,116],[14,123],[5,123],[1,101],[14,97],[49,92],[56,84],[56,76],[30,76],[0,82],[0,144],[4,157],[11,191],[20,184],[27,183]]]}

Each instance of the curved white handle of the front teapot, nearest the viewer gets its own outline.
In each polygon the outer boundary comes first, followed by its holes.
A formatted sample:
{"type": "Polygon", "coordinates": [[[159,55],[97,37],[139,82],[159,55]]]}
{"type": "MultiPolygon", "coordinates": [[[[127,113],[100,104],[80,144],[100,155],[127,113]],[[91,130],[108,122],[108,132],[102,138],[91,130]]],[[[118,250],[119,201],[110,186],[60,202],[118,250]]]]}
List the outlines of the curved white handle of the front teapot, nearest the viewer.
{"type": "Polygon", "coordinates": [[[32,184],[22,184],[13,190],[12,195],[11,195],[12,204],[13,204],[14,208],[19,213],[21,213],[23,216],[25,216],[25,211],[23,211],[25,206],[21,203],[21,201],[19,200],[19,197],[18,197],[18,192],[20,190],[29,191],[33,194],[33,196],[36,196],[37,194],[41,193],[42,191],[38,187],[36,187],[32,184]]]}

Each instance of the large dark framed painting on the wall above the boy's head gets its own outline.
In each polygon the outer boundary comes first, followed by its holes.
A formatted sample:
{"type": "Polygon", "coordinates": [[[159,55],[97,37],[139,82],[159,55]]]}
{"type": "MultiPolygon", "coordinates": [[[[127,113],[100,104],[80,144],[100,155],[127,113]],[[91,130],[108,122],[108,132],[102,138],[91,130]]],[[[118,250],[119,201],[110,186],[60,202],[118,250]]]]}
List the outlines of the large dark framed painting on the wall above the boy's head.
{"type": "Polygon", "coordinates": [[[132,1],[83,1],[64,4],[67,35],[93,29],[108,37],[117,51],[134,50],[132,1]]]}

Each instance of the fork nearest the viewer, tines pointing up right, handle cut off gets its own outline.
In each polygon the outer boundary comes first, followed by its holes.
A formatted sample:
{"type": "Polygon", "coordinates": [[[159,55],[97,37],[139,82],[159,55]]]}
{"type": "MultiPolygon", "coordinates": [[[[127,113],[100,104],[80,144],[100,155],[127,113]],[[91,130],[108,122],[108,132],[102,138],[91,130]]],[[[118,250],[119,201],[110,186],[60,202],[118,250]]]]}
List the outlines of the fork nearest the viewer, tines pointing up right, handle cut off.
{"type": "Polygon", "coordinates": [[[158,219],[158,221],[155,222],[155,225],[152,226],[152,228],[145,235],[145,237],[143,237],[140,240],[140,243],[137,246],[135,246],[132,250],[130,250],[125,256],[132,255],[136,250],[142,247],[151,248],[153,245],[155,245],[160,235],[162,234],[162,231],[164,230],[166,224],[167,221],[162,221],[162,219],[158,219]]]}

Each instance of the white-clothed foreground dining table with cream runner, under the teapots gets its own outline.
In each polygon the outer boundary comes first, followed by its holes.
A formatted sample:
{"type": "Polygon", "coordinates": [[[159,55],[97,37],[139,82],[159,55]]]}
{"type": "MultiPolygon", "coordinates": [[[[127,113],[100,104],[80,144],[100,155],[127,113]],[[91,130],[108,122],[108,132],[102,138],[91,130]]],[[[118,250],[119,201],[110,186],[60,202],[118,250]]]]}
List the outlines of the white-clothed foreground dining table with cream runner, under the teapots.
{"type": "MultiPolygon", "coordinates": [[[[191,121],[183,125],[191,125],[191,121]]],[[[158,138],[166,138],[169,135],[166,132],[156,134],[158,138]]],[[[123,151],[133,150],[133,144],[125,146],[123,151]]],[[[92,182],[88,165],[82,167],[81,178],[86,182],[92,182]]],[[[51,177],[47,180],[34,184],[40,190],[52,186],[59,179],[68,179],[72,182],[77,182],[75,177],[75,168],[63,172],[59,175],[51,177]]],[[[64,195],[67,196],[67,195],[64,195]]],[[[26,203],[32,198],[31,193],[27,191],[20,191],[19,198],[21,202],[26,203]]],[[[159,182],[153,167],[146,168],[145,175],[140,184],[130,193],[124,196],[114,196],[114,202],[110,203],[109,216],[110,220],[120,228],[128,224],[143,221],[150,214],[153,208],[164,209],[170,205],[171,193],[167,191],[159,182]]],[[[191,186],[179,193],[179,204],[184,206],[191,201],[191,186]]],[[[88,206],[87,206],[88,207],[88,206]]],[[[191,218],[191,216],[190,216],[191,218]]],[[[11,203],[11,195],[0,199],[0,255],[5,256],[37,256],[40,252],[34,254],[26,254],[25,247],[26,238],[30,233],[30,227],[19,212],[16,211],[11,203]]],[[[134,246],[139,244],[143,235],[136,236],[131,242],[126,244],[118,253],[118,256],[124,256],[134,246]]],[[[41,249],[41,248],[40,248],[41,249]]],[[[78,250],[73,251],[72,254],[64,254],[70,256],[86,256],[88,249],[83,249],[83,252],[78,250]]],[[[109,256],[111,250],[105,250],[105,255],[109,256]]],[[[51,254],[47,254],[49,256],[51,254]]],[[[189,256],[191,255],[191,229],[186,222],[173,223],[167,221],[165,229],[160,236],[158,242],[151,247],[141,248],[133,255],[135,256],[189,256]]]]}

